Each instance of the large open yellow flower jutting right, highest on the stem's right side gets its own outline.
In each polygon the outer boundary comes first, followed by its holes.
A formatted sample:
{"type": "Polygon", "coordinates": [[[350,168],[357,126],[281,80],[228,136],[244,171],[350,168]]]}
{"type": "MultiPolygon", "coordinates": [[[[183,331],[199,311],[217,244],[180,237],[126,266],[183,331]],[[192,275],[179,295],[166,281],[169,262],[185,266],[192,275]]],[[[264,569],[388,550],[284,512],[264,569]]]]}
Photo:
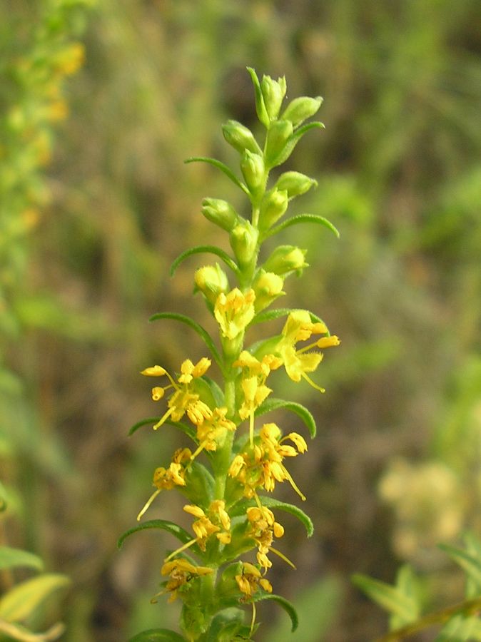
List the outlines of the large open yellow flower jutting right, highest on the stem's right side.
{"type": "Polygon", "coordinates": [[[323,348],[339,345],[338,337],[322,337],[299,350],[296,349],[295,344],[300,341],[307,341],[311,335],[325,335],[327,333],[328,328],[325,324],[311,321],[307,310],[294,310],[294,312],[290,312],[288,320],[285,322],[282,338],[277,345],[277,352],[283,360],[288,377],[295,382],[305,379],[320,392],[325,392],[324,388],[315,384],[307,373],[316,370],[323,359],[323,355],[320,352],[308,352],[308,350],[314,347],[323,348]]]}

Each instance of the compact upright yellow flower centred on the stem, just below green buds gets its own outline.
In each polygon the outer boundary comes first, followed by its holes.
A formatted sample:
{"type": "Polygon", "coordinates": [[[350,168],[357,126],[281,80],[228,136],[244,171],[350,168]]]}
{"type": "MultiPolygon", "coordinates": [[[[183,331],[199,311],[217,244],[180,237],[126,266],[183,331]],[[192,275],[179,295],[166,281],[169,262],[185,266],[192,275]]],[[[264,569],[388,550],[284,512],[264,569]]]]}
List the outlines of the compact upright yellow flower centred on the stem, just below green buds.
{"type": "Polygon", "coordinates": [[[238,287],[227,295],[223,292],[218,295],[214,315],[223,337],[233,340],[245,330],[255,314],[254,300],[254,290],[248,290],[243,294],[238,287]]]}

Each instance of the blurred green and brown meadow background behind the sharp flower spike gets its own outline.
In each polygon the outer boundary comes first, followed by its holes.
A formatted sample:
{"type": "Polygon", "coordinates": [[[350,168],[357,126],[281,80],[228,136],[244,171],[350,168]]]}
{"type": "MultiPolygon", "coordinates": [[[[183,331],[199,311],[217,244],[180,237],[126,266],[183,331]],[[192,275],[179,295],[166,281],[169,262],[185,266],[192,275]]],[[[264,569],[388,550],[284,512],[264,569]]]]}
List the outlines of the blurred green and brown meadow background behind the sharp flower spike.
{"type": "MultiPolygon", "coordinates": [[[[286,516],[279,548],[298,570],[272,573],[305,628],[290,636],[285,614],[262,605],[256,639],[380,635],[385,616],[350,576],[391,582],[406,561],[427,578],[427,607],[461,598],[460,572],[436,544],[481,531],[480,9],[0,1],[0,543],[71,578],[66,640],[176,628],[176,603],[150,603],[168,535],[138,534],[121,551],[116,540],[178,434],[128,429],[157,412],[138,372],[204,353],[184,327],[148,317],[173,310],[214,329],[192,296],[203,259],[173,280],[168,267],[191,245],[228,249],[201,216],[203,197],[246,213],[221,173],[183,165],[216,156],[236,167],[228,118],[259,131],[246,66],[285,74],[288,98],[325,99],[325,131],[305,136],[284,169],[319,181],[293,212],[328,217],[340,240],[308,226],[283,233],[310,263],[286,282],[285,303],[342,340],[318,370],[324,395],[276,379],[276,396],[318,422],[291,467],[315,534],[286,516]]],[[[297,499],[290,487],[278,497],[297,499]]],[[[182,504],[162,494],[149,516],[175,519],[182,504]]]]}

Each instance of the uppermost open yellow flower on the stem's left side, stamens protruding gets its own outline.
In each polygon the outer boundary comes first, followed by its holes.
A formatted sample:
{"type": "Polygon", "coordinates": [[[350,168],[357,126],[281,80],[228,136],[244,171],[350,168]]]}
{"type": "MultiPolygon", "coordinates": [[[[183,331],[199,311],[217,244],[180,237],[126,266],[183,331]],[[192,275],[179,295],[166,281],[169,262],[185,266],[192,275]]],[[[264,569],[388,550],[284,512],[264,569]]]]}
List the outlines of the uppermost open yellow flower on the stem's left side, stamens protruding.
{"type": "Polygon", "coordinates": [[[191,383],[194,379],[202,377],[211,366],[211,360],[207,357],[202,357],[196,364],[193,364],[190,359],[186,359],[181,365],[181,374],[177,381],[171,377],[167,370],[159,365],[151,366],[142,370],[141,374],[146,377],[168,377],[170,384],[161,387],[155,386],[152,388],[153,401],[159,401],[163,398],[166,390],[173,388],[175,392],[168,399],[168,410],[163,414],[161,419],[153,427],[154,430],[158,429],[168,417],[171,417],[174,422],[179,422],[184,414],[187,414],[191,422],[198,426],[205,419],[212,417],[212,411],[206,403],[201,401],[199,395],[193,392],[191,383]]]}

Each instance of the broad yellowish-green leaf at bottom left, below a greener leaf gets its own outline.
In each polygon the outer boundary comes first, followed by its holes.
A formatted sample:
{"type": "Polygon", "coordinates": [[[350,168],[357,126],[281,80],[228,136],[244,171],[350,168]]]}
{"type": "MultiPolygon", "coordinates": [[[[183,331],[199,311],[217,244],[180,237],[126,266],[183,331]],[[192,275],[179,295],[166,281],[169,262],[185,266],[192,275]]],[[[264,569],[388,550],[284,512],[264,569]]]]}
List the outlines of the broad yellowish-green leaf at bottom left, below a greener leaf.
{"type": "Polygon", "coordinates": [[[0,618],[20,622],[31,616],[53,593],[69,586],[65,575],[44,574],[16,584],[0,599],[0,618]]]}

